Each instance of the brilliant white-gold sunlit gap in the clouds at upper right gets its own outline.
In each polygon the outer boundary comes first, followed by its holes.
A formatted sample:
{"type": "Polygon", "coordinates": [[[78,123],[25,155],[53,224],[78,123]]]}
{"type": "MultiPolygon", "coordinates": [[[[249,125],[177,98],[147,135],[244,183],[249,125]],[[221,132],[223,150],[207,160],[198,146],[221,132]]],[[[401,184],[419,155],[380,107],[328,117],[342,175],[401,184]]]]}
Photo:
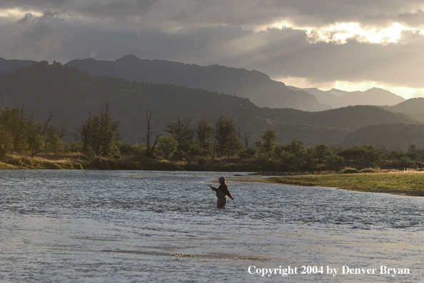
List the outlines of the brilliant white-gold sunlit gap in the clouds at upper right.
{"type": "Polygon", "coordinates": [[[271,29],[295,29],[306,31],[306,39],[309,43],[315,44],[320,41],[334,44],[346,44],[348,39],[355,39],[360,43],[389,44],[397,43],[402,31],[413,31],[420,35],[424,34],[423,29],[411,28],[398,23],[382,29],[376,27],[363,28],[358,23],[332,24],[326,27],[296,27],[287,21],[270,26],[271,29]]]}

